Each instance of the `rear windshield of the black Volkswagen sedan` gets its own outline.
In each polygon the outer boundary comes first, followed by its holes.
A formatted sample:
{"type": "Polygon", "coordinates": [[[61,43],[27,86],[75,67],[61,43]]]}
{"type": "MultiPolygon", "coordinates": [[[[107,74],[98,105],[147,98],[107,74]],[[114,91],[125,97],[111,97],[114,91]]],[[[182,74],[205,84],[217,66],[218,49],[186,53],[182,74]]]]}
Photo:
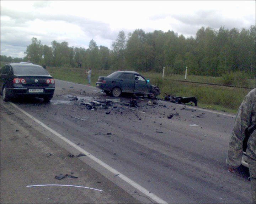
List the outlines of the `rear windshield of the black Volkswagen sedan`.
{"type": "Polygon", "coordinates": [[[22,64],[22,66],[12,66],[14,74],[17,75],[49,75],[46,69],[40,66],[27,66],[22,64]]]}

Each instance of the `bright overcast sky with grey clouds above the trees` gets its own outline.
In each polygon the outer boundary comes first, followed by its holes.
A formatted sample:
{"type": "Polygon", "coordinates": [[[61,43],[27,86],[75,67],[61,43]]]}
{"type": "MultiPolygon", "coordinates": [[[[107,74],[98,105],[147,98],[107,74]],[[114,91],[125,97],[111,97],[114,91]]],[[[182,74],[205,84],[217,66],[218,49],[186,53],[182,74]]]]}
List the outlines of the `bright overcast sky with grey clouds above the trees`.
{"type": "Polygon", "coordinates": [[[24,57],[36,37],[88,48],[91,39],[111,48],[119,31],[173,30],[196,36],[202,26],[218,30],[255,25],[255,1],[0,1],[1,55],[24,57]]]}

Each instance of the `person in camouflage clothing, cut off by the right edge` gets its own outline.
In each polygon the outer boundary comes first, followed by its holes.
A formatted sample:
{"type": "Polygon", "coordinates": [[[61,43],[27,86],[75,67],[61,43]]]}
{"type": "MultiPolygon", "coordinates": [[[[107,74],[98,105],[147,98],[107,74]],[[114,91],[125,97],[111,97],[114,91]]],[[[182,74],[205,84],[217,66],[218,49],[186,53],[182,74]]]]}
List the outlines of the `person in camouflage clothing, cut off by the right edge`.
{"type": "Polygon", "coordinates": [[[255,203],[255,89],[247,94],[236,115],[226,159],[230,172],[241,164],[245,138],[248,138],[246,154],[251,178],[252,201],[255,203]]]}

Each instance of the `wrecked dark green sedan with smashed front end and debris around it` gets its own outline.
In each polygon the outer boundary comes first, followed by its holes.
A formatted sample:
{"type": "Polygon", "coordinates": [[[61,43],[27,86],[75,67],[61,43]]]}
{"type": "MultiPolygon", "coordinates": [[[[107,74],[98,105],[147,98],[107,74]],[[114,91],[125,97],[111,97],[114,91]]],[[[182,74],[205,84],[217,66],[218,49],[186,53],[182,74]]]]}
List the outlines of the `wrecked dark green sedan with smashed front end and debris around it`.
{"type": "Polygon", "coordinates": [[[153,99],[160,94],[158,86],[153,86],[142,75],[133,71],[118,71],[107,77],[99,77],[96,87],[107,95],[119,97],[124,93],[146,94],[153,99]]]}

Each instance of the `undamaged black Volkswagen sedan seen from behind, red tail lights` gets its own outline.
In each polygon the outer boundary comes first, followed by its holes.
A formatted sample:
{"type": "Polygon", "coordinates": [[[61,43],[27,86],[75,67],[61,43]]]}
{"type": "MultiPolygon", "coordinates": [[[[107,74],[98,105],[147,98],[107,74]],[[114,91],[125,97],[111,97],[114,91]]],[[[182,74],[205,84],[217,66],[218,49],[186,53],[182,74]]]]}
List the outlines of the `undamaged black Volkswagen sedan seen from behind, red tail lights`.
{"type": "Polygon", "coordinates": [[[1,68],[1,95],[4,101],[17,96],[33,96],[49,102],[55,81],[43,67],[28,63],[11,63],[1,68]]]}

